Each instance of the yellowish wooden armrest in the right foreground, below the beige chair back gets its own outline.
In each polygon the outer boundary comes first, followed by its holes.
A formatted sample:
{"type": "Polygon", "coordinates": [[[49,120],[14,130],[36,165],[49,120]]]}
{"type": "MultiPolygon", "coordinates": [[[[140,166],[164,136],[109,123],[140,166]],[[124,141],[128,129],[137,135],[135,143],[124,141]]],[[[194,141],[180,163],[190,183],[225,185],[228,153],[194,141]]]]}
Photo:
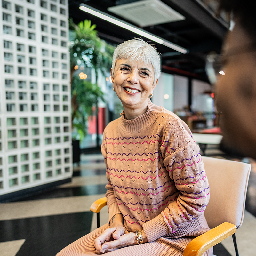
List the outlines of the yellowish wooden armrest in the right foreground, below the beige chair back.
{"type": "Polygon", "coordinates": [[[235,232],[236,226],[234,224],[224,222],[203,235],[194,238],[185,248],[183,256],[201,256],[206,250],[219,244],[235,232]]]}

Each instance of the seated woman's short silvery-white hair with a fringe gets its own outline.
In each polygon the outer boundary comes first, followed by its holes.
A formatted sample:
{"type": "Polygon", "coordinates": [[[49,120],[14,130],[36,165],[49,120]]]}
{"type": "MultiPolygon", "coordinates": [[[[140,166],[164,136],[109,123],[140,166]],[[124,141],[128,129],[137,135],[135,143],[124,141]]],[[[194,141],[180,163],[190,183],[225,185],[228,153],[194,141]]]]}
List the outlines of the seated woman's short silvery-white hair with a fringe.
{"type": "Polygon", "coordinates": [[[112,76],[114,77],[114,69],[116,61],[126,59],[132,62],[142,61],[146,65],[152,65],[154,69],[154,83],[160,76],[160,57],[156,48],[151,44],[139,38],[134,38],[119,44],[113,54],[112,61],[112,76]]]}

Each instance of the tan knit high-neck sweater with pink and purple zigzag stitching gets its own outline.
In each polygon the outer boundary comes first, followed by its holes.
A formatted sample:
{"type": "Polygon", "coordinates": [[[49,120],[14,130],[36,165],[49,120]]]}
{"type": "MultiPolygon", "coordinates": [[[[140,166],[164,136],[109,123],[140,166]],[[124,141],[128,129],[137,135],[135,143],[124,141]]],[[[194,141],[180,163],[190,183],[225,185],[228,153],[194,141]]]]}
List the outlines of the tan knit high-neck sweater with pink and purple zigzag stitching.
{"type": "Polygon", "coordinates": [[[182,237],[204,221],[209,184],[200,148],[188,126],[150,100],[145,114],[121,117],[104,130],[109,220],[122,213],[130,232],[149,242],[182,237]]]}

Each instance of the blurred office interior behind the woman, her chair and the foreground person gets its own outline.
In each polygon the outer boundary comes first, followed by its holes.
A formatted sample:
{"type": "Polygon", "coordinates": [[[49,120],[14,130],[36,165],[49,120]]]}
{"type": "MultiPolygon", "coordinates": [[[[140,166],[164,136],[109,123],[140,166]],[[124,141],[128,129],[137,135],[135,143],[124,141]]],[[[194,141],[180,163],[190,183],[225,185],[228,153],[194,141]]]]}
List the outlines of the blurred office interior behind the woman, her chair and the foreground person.
{"type": "MultiPolygon", "coordinates": [[[[112,53],[134,37],[161,53],[152,102],[188,124],[202,154],[252,164],[237,240],[241,255],[254,255],[256,165],[220,150],[205,72],[232,25],[215,1],[1,0],[0,13],[1,255],[55,255],[96,228],[89,207],[106,192],[102,133],[122,112],[112,53]]],[[[214,254],[233,256],[232,241],[214,254]]]]}

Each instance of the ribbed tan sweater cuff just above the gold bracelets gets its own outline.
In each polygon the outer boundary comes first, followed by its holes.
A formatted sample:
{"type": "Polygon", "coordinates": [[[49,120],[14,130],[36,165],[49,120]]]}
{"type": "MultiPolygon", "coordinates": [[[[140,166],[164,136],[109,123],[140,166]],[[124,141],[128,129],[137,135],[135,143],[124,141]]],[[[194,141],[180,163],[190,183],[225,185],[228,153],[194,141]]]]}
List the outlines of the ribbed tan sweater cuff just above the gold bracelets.
{"type": "Polygon", "coordinates": [[[161,214],[156,216],[154,219],[145,222],[143,224],[143,231],[148,242],[155,241],[160,236],[170,233],[170,229],[167,227],[161,214]]]}

